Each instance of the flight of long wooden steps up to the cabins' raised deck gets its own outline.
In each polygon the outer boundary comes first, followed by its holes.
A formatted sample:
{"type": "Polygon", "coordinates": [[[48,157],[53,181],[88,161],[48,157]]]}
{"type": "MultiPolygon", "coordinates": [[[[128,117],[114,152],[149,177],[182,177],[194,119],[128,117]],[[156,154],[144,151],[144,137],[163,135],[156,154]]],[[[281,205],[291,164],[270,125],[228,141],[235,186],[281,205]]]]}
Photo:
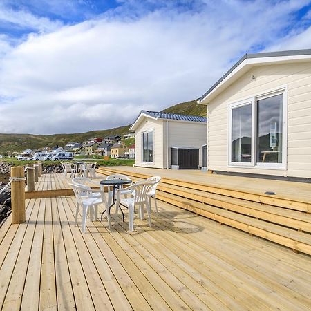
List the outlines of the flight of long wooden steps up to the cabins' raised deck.
{"type": "MultiPolygon", "coordinates": [[[[125,171],[110,168],[101,169],[100,172],[107,176],[111,173],[126,174],[125,171]]],[[[131,176],[133,181],[147,178],[147,176],[135,173],[127,173],[127,176],[131,176]]],[[[290,247],[295,251],[311,254],[310,214],[173,185],[165,181],[161,180],[158,185],[157,198],[159,200],[290,247]],[[294,229],[303,232],[297,232],[294,229]]]]}

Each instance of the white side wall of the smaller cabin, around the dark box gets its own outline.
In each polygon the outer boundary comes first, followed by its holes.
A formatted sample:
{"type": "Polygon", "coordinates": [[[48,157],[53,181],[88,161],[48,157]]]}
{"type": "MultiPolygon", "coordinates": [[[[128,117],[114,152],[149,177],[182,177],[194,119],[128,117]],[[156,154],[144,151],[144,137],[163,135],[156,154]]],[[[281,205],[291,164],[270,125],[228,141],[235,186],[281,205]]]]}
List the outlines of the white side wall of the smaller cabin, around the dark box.
{"type": "MultiPolygon", "coordinates": [[[[206,123],[199,122],[169,121],[169,166],[171,165],[171,147],[198,148],[199,165],[202,166],[202,146],[207,144],[206,126],[206,123]]],[[[166,126],[164,129],[166,133],[166,126]]],[[[166,160],[166,154],[164,158],[166,160]]]]}

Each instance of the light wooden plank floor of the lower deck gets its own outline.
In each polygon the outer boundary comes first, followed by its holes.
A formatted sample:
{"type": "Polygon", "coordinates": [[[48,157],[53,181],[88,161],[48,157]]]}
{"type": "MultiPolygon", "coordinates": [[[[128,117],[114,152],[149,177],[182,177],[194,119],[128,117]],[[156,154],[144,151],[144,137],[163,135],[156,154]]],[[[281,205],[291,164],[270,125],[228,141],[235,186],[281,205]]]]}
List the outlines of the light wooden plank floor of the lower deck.
{"type": "Polygon", "coordinates": [[[184,209],[159,201],[152,227],[88,221],[82,234],[73,196],[26,205],[26,223],[0,228],[1,310],[311,309],[310,256],[184,209]]]}

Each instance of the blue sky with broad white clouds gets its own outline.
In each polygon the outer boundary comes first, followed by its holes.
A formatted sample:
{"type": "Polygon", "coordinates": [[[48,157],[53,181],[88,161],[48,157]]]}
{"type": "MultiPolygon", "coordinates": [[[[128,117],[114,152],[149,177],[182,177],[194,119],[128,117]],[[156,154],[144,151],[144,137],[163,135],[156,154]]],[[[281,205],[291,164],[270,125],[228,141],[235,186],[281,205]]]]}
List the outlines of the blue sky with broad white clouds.
{"type": "Polygon", "coordinates": [[[245,53],[311,48],[311,0],[0,0],[0,133],[131,124],[245,53]]]}

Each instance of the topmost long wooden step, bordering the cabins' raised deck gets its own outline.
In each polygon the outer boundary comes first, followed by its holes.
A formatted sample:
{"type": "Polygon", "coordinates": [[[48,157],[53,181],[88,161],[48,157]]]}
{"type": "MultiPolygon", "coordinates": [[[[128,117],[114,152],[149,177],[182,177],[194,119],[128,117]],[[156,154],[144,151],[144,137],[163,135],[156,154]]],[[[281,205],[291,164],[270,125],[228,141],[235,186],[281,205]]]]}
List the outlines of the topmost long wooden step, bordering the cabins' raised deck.
{"type": "MultiPolygon", "coordinates": [[[[122,171],[121,169],[114,169],[111,167],[100,167],[97,169],[97,171],[100,173],[100,171],[109,171],[110,173],[122,173],[127,176],[133,176],[135,178],[149,178],[151,176],[141,174],[141,173],[134,173],[129,171],[122,171]]],[[[219,187],[210,187],[209,185],[200,184],[200,183],[194,183],[194,182],[185,182],[183,180],[175,180],[171,178],[162,178],[162,183],[166,183],[168,185],[176,185],[183,188],[189,188],[189,189],[196,189],[201,190],[205,192],[210,192],[212,194],[220,194],[223,196],[230,196],[232,198],[241,198],[243,200],[249,200],[252,202],[258,202],[263,203],[265,205],[273,205],[276,207],[285,207],[287,209],[292,209],[295,211],[304,211],[311,213],[311,204],[308,202],[301,202],[301,201],[294,201],[289,200],[286,198],[280,198],[277,196],[268,196],[265,194],[251,194],[248,192],[238,191],[236,189],[225,189],[225,188],[219,188],[219,187]]]]}

